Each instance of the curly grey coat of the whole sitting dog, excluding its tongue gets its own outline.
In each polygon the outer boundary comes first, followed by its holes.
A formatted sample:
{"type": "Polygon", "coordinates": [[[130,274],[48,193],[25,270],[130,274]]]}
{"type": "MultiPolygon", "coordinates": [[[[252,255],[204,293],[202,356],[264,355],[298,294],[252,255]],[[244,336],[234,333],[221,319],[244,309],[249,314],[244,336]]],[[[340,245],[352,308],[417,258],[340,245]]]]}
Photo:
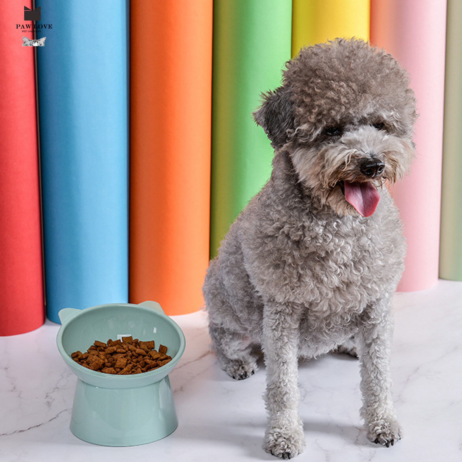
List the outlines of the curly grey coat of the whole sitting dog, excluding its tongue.
{"type": "Polygon", "coordinates": [[[384,182],[401,178],[413,158],[416,113],[407,74],[360,40],[304,48],[254,117],[274,146],[273,172],[207,270],[214,350],[222,368],[243,379],[256,370],[262,349],[264,448],[291,458],[304,449],[298,358],[355,354],[356,346],[367,436],[394,444],[401,430],[389,366],[392,296],[405,242],[384,182]],[[374,213],[361,216],[346,201],[346,182],[377,188],[374,213]]]}

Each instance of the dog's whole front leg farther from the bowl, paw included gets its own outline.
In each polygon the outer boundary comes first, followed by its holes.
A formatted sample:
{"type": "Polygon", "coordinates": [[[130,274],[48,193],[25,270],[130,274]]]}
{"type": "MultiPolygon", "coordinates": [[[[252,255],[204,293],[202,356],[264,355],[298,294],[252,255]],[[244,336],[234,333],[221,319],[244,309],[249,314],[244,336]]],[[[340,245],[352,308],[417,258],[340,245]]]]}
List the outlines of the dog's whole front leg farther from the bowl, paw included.
{"type": "Polygon", "coordinates": [[[373,443],[389,445],[401,439],[392,399],[390,354],[393,335],[392,296],[368,307],[359,326],[361,392],[367,437],[373,443]]]}

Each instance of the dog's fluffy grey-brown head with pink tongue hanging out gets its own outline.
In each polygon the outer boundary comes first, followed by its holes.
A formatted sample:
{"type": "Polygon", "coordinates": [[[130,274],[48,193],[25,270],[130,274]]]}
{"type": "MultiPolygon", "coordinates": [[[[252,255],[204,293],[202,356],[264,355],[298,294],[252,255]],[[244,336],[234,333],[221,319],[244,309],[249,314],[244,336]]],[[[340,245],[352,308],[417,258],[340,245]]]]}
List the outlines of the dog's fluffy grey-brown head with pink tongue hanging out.
{"type": "Polygon", "coordinates": [[[289,152],[303,187],[340,215],[370,216],[385,181],[413,159],[415,98],[383,50],[337,39],[304,48],[283,85],[263,95],[255,121],[289,152]]]}

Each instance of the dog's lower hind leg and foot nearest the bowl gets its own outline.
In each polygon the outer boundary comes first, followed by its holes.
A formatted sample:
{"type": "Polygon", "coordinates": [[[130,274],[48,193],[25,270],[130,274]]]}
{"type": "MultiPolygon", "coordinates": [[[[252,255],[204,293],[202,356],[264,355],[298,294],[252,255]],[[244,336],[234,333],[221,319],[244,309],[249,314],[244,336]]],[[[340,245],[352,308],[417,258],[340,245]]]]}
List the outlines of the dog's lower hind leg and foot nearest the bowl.
{"type": "Polygon", "coordinates": [[[221,368],[232,378],[243,380],[258,369],[258,355],[249,335],[226,330],[216,324],[209,325],[213,349],[221,368]]]}

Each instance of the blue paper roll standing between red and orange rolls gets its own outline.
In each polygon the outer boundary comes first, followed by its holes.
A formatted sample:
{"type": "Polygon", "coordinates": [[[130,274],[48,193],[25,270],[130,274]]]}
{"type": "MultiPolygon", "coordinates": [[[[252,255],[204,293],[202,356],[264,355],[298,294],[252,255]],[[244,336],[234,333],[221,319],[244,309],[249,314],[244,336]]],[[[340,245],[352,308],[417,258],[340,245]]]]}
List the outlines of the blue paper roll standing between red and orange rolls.
{"type": "Polygon", "coordinates": [[[128,301],[127,4],[41,3],[47,316],[128,301]]]}

